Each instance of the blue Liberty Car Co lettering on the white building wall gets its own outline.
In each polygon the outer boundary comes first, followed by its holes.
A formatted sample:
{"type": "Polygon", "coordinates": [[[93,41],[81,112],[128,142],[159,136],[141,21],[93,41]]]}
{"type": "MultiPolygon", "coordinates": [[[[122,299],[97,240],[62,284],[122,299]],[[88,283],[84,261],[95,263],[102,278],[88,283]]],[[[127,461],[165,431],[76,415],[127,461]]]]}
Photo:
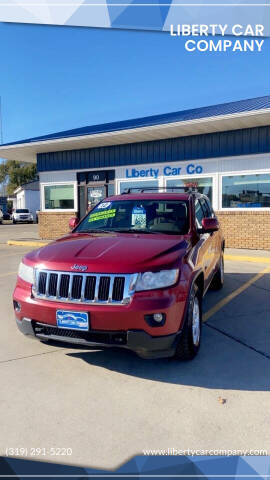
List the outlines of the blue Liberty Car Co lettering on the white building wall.
{"type": "Polygon", "coordinates": [[[173,177],[177,175],[199,175],[203,167],[196,163],[189,163],[185,167],[166,165],[162,168],[126,168],[126,178],[158,178],[161,175],[173,177]]]}

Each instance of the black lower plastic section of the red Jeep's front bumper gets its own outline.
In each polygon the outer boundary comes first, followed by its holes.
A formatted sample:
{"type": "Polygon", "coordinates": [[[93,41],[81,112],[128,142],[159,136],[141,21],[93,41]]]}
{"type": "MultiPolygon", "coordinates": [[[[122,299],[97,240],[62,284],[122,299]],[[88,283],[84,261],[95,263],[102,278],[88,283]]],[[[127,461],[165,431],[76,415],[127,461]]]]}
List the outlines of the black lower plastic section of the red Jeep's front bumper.
{"type": "Polygon", "coordinates": [[[141,358],[153,359],[172,357],[181,332],[171,335],[151,336],[141,330],[89,331],[59,329],[56,326],[41,324],[29,318],[16,318],[19,330],[27,336],[39,340],[53,340],[81,345],[87,348],[103,349],[117,347],[135,352],[141,358]]]}

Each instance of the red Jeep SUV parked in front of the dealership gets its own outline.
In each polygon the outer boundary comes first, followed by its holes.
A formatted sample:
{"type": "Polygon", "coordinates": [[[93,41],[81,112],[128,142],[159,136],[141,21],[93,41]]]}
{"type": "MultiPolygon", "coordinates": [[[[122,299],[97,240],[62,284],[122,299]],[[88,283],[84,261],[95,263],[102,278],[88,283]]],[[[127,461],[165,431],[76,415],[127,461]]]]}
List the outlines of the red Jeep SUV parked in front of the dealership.
{"type": "Polygon", "coordinates": [[[28,253],[14,291],[19,329],[40,340],[192,359],[202,298],[223,284],[224,239],[204,195],[127,193],[28,253]]]}

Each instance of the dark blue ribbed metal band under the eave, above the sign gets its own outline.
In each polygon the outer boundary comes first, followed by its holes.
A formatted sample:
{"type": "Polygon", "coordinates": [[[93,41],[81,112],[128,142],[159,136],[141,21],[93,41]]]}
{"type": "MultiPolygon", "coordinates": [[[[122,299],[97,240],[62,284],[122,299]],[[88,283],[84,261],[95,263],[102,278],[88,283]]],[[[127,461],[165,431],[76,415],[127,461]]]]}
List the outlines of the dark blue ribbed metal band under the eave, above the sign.
{"type": "Polygon", "coordinates": [[[270,126],[37,154],[38,172],[115,168],[270,152],[270,126]]]}

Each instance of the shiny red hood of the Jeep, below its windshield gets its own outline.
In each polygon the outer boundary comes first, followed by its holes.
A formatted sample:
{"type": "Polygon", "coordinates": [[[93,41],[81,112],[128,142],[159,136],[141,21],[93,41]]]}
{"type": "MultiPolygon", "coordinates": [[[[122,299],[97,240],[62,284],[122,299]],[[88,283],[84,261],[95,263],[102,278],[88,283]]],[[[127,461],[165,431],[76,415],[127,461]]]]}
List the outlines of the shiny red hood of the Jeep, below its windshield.
{"type": "Polygon", "coordinates": [[[190,249],[187,236],[143,234],[71,234],[26,255],[30,265],[70,271],[135,273],[172,268],[190,249]],[[74,271],[74,270],[72,270],[74,271]]]}

